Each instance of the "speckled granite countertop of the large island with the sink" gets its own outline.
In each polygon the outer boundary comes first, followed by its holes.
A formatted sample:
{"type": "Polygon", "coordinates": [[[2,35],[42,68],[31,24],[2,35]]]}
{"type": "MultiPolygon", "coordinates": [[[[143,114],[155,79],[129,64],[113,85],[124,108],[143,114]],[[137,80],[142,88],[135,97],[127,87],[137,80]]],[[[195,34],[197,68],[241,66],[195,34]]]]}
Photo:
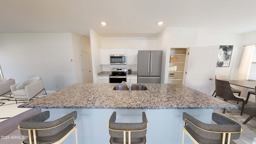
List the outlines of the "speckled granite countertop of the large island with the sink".
{"type": "Polygon", "coordinates": [[[238,108],[182,84],[145,84],[148,90],[113,90],[116,83],[77,83],[19,108],[196,109],[238,108]]]}

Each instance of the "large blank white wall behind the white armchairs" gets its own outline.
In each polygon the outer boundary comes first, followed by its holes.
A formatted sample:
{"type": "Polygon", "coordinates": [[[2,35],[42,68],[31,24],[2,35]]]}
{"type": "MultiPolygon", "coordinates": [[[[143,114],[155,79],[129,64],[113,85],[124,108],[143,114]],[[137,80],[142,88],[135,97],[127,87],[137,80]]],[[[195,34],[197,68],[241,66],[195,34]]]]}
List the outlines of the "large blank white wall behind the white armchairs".
{"type": "Polygon", "coordinates": [[[16,83],[33,76],[46,91],[76,83],[71,33],[0,33],[0,65],[16,83]]]}

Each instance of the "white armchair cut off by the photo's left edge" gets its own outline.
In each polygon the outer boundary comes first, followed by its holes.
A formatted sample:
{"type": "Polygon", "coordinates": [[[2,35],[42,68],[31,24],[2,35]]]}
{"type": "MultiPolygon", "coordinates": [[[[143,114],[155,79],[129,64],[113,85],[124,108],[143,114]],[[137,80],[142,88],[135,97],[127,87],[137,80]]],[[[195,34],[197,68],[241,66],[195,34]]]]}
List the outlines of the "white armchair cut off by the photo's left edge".
{"type": "Polygon", "coordinates": [[[1,78],[0,79],[0,96],[11,95],[12,91],[10,86],[15,84],[15,80],[12,78],[1,78]]]}

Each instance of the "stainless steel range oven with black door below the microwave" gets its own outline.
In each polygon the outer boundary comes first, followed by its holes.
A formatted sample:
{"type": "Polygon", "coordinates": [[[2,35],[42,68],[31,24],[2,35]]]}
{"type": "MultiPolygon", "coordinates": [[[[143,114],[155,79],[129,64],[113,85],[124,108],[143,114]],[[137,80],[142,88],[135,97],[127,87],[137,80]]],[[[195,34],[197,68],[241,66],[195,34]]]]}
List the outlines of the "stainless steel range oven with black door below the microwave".
{"type": "Polygon", "coordinates": [[[112,74],[109,75],[109,83],[122,83],[126,81],[126,68],[112,68],[112,74]]]}

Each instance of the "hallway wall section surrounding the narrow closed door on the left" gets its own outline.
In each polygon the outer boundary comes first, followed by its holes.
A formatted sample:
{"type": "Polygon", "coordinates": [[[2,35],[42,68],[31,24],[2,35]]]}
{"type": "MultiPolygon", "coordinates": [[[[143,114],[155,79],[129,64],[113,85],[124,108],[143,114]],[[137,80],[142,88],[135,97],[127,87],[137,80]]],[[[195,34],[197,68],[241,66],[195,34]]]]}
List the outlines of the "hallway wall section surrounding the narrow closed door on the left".
{"type": "MultiPolygon", "coordinates": [[[[81,52],[87,52],[91,55],[90,40],[84,36],[72,33],[72,46],[74,51],[74,63],[76,70],[76,82],[83,82],[83,72],[81,63],[81,52]]],[[[92,60],[91,60],[92,61],[92,60]]]]}

